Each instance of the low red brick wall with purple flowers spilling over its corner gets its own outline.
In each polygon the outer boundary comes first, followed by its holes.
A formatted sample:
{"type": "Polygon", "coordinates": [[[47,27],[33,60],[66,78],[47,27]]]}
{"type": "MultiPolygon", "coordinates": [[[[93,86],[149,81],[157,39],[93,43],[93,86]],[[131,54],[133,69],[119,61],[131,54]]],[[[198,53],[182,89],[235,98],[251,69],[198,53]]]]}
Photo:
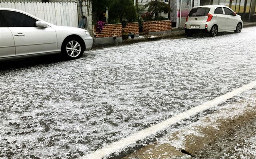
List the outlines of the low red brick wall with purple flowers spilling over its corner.
{"type": "Polygon", "coordinates": [[[122,37],[122,24],[106,24],[103,30],[98,33],[96,31],[96,26],[94,25],[94,35],[95,37],[122,37]]]}

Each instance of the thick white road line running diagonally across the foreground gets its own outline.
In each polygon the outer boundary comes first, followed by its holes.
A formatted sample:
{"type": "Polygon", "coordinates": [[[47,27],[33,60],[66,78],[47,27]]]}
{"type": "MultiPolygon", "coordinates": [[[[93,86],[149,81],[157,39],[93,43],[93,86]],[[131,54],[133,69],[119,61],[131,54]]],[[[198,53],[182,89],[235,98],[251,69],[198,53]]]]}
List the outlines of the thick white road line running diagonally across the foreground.
{"type": "Polygon", "coordinates": [[[187,110],[186,112],[183,112],[181,114],[173,116],[163,122],[160,122],[159,124],[156,124],[154,126],[146,128],[144,130],[141,130],[133,135],[125,137],[124,139],[121,139],[119,141],[116,141],[114,143],[106,145],[102,149],[94,151],[93,153],[90,153],[84,157],[80,157],[80,159],[101,159],[103,157],[107,157],[108,155],[111,155],[112,153],[120,152],[122,149],[129,147],[130,145],[136,143],[136,141],[140,141],[140,140],[146,139],[146,137],[156,135],[156,133],[168,129],[172,124],[175,124],[176,122],[178,122],[180,120],[189,118],[190,116],[193,116],[193,115],[197,114],[198,112],[201,112],[203,110],[206,110],[206,109],[214,107],[214,106],[217,106],[218,104],[225,102],[229,98],[237,96],[238,94],[240,94],[246,90],[249,90],[251,88],[254,88],[254,87],[256,87],[256,80],[253,82],[250,82],[249,84],[246,84],[236,90],[233,90],[232,92],[228,92],[227,94],[219,96],[219,97],[217,97],[213,100],[210,100],[204,104],[201,104],[199,106],[191,108],[190,110],[187,110]]]}

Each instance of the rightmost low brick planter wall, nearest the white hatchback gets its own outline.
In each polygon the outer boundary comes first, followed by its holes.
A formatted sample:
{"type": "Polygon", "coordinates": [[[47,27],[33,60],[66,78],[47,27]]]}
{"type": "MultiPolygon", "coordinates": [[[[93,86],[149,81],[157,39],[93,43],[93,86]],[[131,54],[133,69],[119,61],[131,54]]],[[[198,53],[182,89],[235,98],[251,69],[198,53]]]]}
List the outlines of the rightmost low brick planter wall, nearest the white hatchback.
{"type": "Polygon", "coordinates": [[[168,31],[172,29],[171,20],[142,21],[143,32],[168,31]]]}

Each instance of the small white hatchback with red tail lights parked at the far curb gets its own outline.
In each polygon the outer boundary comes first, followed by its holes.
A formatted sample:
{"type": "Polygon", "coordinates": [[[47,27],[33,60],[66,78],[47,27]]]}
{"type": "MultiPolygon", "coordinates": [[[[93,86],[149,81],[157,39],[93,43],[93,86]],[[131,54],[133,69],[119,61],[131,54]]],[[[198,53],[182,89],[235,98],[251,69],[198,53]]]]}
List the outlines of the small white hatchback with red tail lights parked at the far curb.
{"type": "Polygon", "coordinates": [[[235,31],[240,33],[243,21],[232,9],[223,5],[198,6],[190,10],[184,26],[187,36],[196,31],[205,31],[210,36],[218,32],[235,31]]]}

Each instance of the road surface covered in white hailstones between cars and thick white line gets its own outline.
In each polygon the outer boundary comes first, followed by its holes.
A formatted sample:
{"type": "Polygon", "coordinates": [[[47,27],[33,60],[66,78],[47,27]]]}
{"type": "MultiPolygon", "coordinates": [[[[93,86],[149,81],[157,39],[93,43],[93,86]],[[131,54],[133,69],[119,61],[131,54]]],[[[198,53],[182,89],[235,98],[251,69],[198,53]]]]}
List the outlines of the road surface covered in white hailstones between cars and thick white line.
{"type": "Polygon", "coordinates": [[[0,71],[0,157],[76,158],[256,79],[256,27],[0,71]],[[234,40],[235,39],[235,40],[234,40]]]}

